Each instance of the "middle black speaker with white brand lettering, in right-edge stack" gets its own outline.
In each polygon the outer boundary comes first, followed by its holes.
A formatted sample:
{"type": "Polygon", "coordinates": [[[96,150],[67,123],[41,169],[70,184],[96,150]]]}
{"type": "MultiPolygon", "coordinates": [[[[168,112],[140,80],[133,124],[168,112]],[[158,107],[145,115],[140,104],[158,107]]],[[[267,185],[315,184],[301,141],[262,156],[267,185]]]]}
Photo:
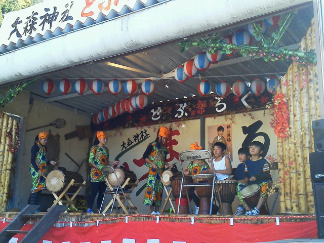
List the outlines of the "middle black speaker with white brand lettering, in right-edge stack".
{"type": "Polygon", "coordinates": [[[309,153],[310,176],[313,182],[324,182],[324,151],[309,153]]]}

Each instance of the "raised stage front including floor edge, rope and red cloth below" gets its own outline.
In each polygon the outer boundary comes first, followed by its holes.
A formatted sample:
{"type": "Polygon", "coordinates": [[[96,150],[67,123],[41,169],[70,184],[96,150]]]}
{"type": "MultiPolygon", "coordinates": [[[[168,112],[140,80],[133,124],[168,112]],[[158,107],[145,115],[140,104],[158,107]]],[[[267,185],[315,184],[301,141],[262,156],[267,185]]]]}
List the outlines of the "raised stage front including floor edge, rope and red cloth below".
{"type": "MultiPolygon", "coordinates": [[[[18,213],[0,213],[2,230],[18,213]]],[[[37,213],[40,216],[45,213],[37,213]]],[[[22,230],[29,230],[37,218],[22,230]]],[[[9,242],[19,243],[23,234],[9,242]]],[[[62,213],[42,243],[214,243],[317,238],[315,215],[103,215],[62,213]]],[[[36,242],[35,242],[36,243],[36,242]]]]}

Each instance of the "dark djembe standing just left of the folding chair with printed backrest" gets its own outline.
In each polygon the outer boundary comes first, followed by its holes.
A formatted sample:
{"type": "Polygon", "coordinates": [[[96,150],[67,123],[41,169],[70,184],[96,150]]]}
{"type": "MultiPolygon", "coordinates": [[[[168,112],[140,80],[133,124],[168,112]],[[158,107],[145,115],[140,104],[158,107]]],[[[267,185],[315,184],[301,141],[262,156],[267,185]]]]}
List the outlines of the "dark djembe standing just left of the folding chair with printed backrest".
{"type": "MultiPolygon", "coordinates": [[[[186,188],[183,187],[180,195],[181,190],[181,180],[182,175],[173,176],[170,178],[171,181],[171,188],[172,188],[172,195],[176,199],[176,206],[179,205],[179,197],[181,197],[180,200],[180,208],[179,208],[179,214],[188,214],[188,198],[186,193],[186,188]]],[[[184,182],[183,184],[192,183],[192,177],[191,176],[184,176],[184,182]]],[[[188,190],[189,193],[189,190],[188,190]]]]}

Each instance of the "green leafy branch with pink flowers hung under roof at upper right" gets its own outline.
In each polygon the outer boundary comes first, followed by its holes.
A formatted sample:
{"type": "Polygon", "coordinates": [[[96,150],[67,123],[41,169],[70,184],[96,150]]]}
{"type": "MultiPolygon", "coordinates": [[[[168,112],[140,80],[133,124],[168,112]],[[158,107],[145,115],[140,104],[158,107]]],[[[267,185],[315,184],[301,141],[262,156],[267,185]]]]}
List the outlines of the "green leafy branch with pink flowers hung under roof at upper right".
{"type": "Polygon", "coordinates": [[[178,43],[180,45],[180,52],[189,50],[191,46],[199,47],[207,50],[209,53],[230,54],[236,49],[242,56],[250,56],[251,58],[263,58],[265,61],[284,61],[295,60],[299,65],[311,65],[316,62],[316,54],[312,51],[301,52],[299,50],[288,50],[278,46],[278,42],[282,35],[287,30],[290,22],[293,20],[297,12],[287,14],[282,18],[278,24],[278,29],[271,34],[271,37],[265,37],[262,33],[262,28],[258,22],[254,25],[254,37],[258,41],[257,46],[249,45],[234,45],[222,43],[222,39],[217,33],[212,36],[204,36],[199,39],[188,39],[184,42],[178,43]]]}

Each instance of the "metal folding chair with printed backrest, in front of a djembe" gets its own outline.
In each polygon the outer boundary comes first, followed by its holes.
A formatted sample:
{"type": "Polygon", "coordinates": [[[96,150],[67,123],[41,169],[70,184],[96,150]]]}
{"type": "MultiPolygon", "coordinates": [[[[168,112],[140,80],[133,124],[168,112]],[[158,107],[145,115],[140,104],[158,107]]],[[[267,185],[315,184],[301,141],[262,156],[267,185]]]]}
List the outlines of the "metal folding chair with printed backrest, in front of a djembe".
{"type": "MultiPolygon", "coordinates": [[[[194,160],[194,159],[205,159],[208,161],[208,159],[212,159],[212,154],[209,150],[186,150],[183,152],[179,153],[179,161],[180,161],[180,165],[181,165],[181,171],[183,171],[183,167],[182,167],[182,161],[188,161],[188,160],[194,160]]],[[[180,188],[180,195],[182,193],[182,189],[184,187],[184,189],[187,192],[187,197],[188,197],[188,201],[189,201],[189,194],[188,194],[188,190],[187,187],[191,187],[191,186],[212,186],[212,198],[211,198],[211,206],[210,206],[210,215],[212,214],[212,206],[213,206],[213,199],[214,199],[214,190],[216,188],[218,197],[219,197],[219,202],[220,202],[220,208],[221,211],[223,211],[223,207],[222,207],[222,200],[220,198],[220,193],[219,193],[219,188],[217,185],[217,176],[214,170],[214,164],[212,162],[212,166],[211,168],[214,171],[214,177],[213,177],[213,182],[212,183],[184,183],[185,182],[185,178],[184,178],[184,174],[182,173],[182,181],[181,181],[181,188],[180,188]]],[[[179,209],[180,209],[180,201],[181,201],[181,197],[179,198],[179,203],[178,203],[178,210],[177,210],[177,214],[179,214],[179,209]]],[[[190,213],[192,213],[191,208],[189,207],[190,213]]]]}

